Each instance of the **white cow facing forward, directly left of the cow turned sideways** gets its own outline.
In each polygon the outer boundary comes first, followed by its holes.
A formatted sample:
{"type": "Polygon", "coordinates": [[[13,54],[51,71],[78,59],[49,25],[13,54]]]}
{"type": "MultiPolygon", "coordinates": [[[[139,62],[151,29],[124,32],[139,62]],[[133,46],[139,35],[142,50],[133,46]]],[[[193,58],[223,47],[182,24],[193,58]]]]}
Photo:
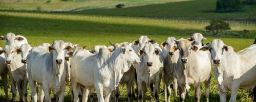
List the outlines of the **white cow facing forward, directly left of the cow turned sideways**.
{"type": "Polygon", "coordinates": [[[27,56],[28,78],[31,89],[32,101],[37,101],[35,83],[42,84],[46,101],[51,101],[50,91],[58,95],[58,100],[63,101],[66,88],[65,69],[65,42],[55,40],[50,52],[44,52],[40,47],[35,47],[27,56]],[[51,50],[52,49],[52,50],[51,50]]]}

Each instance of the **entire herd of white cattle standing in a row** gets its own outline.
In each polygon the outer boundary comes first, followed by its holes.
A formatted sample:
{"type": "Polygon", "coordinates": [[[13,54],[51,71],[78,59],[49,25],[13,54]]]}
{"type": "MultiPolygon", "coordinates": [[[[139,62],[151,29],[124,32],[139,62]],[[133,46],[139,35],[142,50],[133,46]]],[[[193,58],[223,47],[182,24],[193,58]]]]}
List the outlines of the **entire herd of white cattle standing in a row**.
{"type": "Polygon", "coordinates": [[[218,82],[220,101],[226,101],[228,91],[229,101],[236,101],[239,88],[248,92],[256,85],[256,44],[236,53],[220,39],[203,44],[206,38],[200,33],[188,39],[168,37],[160,45],[141,36],[133,43],[109,41],[111,46],[96,45],[91,50],[62,40],[32,47],[24,36],[13,33],[1,38],[6,44],[0,49],[0,74],[6,97],[9,74],[12,101],[16,90],[20,101],[28,101],[28,83],[32,101],[52,101],[51,91],[56,101],[63,101],[66,83],[70,83],[72,101],[95,101],[95,90],[98,101],[118,101],[119,84],[126,84],[128,101],[133,101],[135,85],[139,101],[145,101],[147,86],[151,100],[159,101],[161,80],[164,101],[170,101],[171,89],[175,97],[178,90],[184,101],[190,87],[195,88],[194,98],[200,101],[201,83],[209,101],[212,72],[218,82]]]}

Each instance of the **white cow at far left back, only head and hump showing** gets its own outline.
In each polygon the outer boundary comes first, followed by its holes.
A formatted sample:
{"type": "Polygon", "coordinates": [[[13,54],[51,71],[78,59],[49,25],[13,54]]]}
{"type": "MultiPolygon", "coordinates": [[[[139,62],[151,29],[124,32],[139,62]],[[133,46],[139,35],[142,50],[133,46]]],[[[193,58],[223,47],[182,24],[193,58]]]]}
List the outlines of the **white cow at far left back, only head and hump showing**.
{"type": "Polygon", "coordinates": [[[28,43],[28,40],[21,35],[15,36],[13,33],[8,33],[6,36],[0,36],[2,40],[6,39],[5,45],[21,46],[24,43],[28,43]]]}

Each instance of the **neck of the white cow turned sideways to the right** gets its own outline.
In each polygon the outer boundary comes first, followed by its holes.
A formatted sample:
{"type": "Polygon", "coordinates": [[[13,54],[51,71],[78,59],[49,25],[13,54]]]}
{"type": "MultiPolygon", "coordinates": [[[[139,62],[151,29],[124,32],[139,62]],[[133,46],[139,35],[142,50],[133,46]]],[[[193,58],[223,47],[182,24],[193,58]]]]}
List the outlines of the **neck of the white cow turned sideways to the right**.
{"type": "Polygon", "coordinates": [[[124,68],[127,68],[127,62],[125,56],[121,51],[121,48],[116,49],[114,52],[108,54],[109,58],[107,59],[108,70],[110,71],[110,89],[115,90],[118,86],[123,74],[124,68]]]}

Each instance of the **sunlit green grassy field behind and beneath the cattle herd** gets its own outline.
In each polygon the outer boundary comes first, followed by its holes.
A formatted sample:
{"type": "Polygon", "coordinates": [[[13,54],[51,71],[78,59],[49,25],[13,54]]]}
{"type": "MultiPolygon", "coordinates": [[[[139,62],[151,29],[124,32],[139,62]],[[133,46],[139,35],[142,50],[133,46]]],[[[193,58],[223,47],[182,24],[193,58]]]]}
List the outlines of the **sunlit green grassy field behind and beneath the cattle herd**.
{"type": "MultiPolygon", "coordinates": [[[[109,40],[113,42],[126,42],[136,40],[141,35],[155,39],[158,43],[164,41],[167,37],[174,36],[179,38],[188,38],[193,33],[199,32],[207,38],[205,43],[212,39],[222,39],[225,44],[234,47],[237,52],[251,45],[256,37],[255,33],[249,35],[248,39],[244,38],[227,38],[222,35],[211,36],[205,32],[206,24],[195,24],[191,22],[177,23],[171,20],[148,19],[137,17],[108,17],[108,16],[82,16],[56,13],[19,13],[19,12],[2,12],[0,11],[0,35],[6,35],[9,32],[25,36],[32,46],[39,45],[43,42],[52,43],[56,39],[65,42],[69,41],[75,44],[88,45],[91,49],[94,45],[107,45],[109,40]]],[[[232,31],[241,31],[244,29],[255,32],[254,26],[248,25],[231,25],[232,31]]],[[[232,32],[230,31],[230,32],[232,32]]],[[[230,37],[230,36],[229,36],[230,37]]],[[[0,41],[0,46],[4,46],[5,41],[0,41]]],[[[0,81],[2,83],[2,81],[0,81]]],[[[212,75],[210,85],[210,101],[219,101],[217,81],[212,75]]],[[[121,88],[120,101],[127,101],[126,90],[121,88]]],[[[29,100],[30,100],[30,90],[29,100]]],[[[161,86],[160,99],[163,101],[164,93],[161,86]]],[[[194,88],[189,91],[190,98],[185,101],[194,101],[194,88]]],[[[0,87],[0,101],[4,101],[3,86],[0,87]]],[[[18,96],[18,95],[17,95],[18,96]]],[[[9,98],[11,93],[9,93],[9,98]]],[[[96,99],[96,94],[95,97],[96,99]]],[[[230,98],[230,93],[227,99],[230,98]]],[[[149,100],[149,93],[147,100],[149,100]]],[[[252,101],[253,95],[247,95],[244,90],[239,90],[237,101],[252,101]]],[[[178,100],[172,94],[172,101],[178,100]]],[[[66,88],[65,101],[70,101],[69,88],[66,88]]],[[[204,85],[202,85],[201,101],[205,101],[204,85]]]]}

